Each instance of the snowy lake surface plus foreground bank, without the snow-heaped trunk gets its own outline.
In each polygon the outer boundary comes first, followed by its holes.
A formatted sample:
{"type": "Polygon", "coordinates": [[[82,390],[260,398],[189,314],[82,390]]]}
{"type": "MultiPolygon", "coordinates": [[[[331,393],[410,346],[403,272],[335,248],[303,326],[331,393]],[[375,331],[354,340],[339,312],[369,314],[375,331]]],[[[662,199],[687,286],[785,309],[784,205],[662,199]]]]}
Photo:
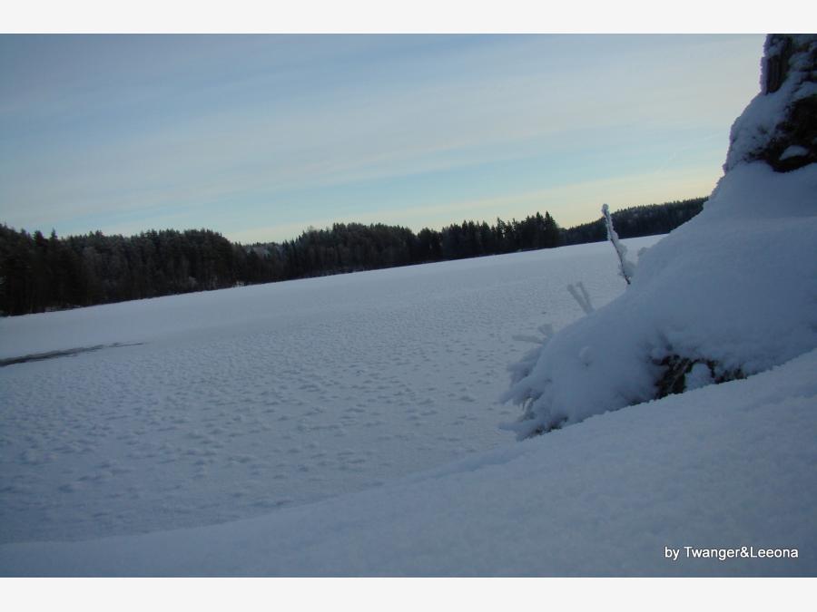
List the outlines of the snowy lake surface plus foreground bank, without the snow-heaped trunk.
{"type": "Polygon", "coordinates": [[[0,368],[0,574],[814,575],[815,352],[497,428],[512,337],[615,271],[601,243],[3,319],[0,359],[122,345],[0,368]]]}

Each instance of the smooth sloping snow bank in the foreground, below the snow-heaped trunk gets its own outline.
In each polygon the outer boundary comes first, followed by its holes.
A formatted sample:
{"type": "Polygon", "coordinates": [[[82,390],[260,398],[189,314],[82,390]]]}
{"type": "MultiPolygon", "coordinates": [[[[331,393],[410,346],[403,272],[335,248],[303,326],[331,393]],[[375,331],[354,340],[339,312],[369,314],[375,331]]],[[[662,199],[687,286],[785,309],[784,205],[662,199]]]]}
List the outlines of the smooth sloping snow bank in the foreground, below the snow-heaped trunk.
{"type": "Polygon", "coordinates": [[[813,576],[817,351],[383,487],[196,529],[6,544],[22,576],[813,576]],[[797,558],[694,559],[684,547],[797,558]],[[665,549],[681,549],[665,558],[665,549]]]}

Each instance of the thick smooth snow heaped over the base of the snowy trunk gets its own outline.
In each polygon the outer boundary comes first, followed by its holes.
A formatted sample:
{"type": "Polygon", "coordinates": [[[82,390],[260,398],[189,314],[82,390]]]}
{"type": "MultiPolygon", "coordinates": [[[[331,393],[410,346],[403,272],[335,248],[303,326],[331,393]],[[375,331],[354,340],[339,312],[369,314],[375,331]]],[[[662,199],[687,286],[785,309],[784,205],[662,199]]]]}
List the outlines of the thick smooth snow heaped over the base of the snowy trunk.
{"type": "Polygon", "coordinates": [[[750,375],[817,347],[815,193],[814,164],[728,172],[703,212],[644,253],[623,296],[528,357],[506,395],[527,401],[518,434],[653,399],[667,355],[750,375]]]}

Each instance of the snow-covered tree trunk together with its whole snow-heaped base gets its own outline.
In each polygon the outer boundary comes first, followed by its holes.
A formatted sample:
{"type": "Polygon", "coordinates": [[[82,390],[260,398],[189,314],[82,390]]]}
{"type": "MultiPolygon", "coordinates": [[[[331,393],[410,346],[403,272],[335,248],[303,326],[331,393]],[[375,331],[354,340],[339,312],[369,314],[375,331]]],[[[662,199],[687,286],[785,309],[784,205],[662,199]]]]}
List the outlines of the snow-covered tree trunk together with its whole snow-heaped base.
{"type": "Polygon", "coordinates": [[[817,100],[817,35],[770,36],[763,66],[767,86],[735,121],[726,173],[703,212],[640,257],[623,296],[512,366],[503,399],[523,407],[507,425],[518,437],[817,347],[815,143],[790,125],[817,100]],[[781,156],[799,165],[776,167],[781,156]]]}

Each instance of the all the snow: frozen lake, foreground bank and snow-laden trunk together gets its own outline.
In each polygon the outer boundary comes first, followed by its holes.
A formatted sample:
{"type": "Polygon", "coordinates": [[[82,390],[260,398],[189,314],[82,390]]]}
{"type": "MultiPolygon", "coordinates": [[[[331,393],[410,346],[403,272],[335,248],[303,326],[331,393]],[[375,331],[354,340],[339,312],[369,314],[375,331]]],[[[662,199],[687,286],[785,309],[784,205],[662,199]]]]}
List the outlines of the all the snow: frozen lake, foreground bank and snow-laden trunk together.
{"type": "Polygon", "coordinates": [[[626,290],[602,243],[0,321],[0,574],[817,574],[817,164],[755,160],[793,42],[626,290]]]}

